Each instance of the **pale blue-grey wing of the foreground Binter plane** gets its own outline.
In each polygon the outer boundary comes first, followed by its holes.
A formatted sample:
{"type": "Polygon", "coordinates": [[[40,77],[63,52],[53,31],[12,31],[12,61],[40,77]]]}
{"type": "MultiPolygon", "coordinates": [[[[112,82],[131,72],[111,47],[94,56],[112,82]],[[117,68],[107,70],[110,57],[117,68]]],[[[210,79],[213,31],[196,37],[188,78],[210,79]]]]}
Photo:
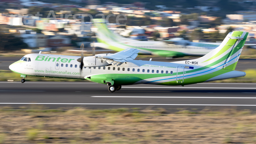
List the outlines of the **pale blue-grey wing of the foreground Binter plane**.
{"type": "Polygon", "coordinates": [[[123,51],[116,52],[114,54],[105,55],[102,54],[95,55],[97,58],[101,58],[104,61],[108,62],[109,64],[113,64],[116,66],[121,65],[123,62],[130,62],[134,60],[139,53],[140,50],[129,48],[123,51]]]}

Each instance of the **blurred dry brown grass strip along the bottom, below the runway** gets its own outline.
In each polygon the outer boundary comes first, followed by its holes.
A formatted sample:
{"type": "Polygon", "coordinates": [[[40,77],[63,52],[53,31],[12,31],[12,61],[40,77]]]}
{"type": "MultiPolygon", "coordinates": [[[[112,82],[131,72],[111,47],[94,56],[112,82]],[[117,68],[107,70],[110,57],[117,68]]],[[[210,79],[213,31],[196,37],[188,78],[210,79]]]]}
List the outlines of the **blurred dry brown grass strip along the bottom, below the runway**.
{"type": "Polygon", "coordinates": [[[248,110],[18,110],[1,108],[0,144],[256,143],[256,114],[248,110]]]}

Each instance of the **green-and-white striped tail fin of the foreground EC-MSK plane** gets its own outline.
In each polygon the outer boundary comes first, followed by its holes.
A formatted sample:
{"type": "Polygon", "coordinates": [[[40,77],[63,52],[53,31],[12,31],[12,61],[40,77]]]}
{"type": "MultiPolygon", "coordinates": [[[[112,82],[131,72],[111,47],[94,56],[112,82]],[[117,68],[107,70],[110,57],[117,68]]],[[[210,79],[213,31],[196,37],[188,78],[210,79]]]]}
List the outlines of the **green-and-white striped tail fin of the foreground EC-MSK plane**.
{"type": "Polygon", "coordinates": [[[222,67],[223,69],[235,70],[236,64],[246,42],[248,32],[230,32],[222,43],[203,57],[191,60],[205,67],[222,67]]]}

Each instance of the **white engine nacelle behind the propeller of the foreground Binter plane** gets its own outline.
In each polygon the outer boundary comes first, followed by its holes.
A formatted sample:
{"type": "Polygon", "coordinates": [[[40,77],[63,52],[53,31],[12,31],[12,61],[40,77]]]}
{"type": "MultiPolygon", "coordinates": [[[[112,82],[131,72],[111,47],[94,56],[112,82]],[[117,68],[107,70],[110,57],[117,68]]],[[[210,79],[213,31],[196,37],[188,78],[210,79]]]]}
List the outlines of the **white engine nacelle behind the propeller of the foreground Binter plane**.
{"type": "Polygon", "coordinates": [[[101,58],[95,56],[84,57],[84,67],[102,67],[108,65],[109,63],[101,58]]]}

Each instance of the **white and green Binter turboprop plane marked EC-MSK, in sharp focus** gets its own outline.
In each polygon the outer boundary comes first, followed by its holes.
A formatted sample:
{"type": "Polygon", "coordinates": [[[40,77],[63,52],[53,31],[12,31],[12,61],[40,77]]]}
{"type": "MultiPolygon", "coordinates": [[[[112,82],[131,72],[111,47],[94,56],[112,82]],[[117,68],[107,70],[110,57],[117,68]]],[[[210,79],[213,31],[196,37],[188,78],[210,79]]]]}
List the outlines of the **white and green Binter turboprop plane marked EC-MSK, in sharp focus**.
{"type": "Polygon", "coordinates": [[[248,32],[230,32],[219,47],[198,59],[179,62],[134,60],[139,50],[127,49],[114,54],[81,57],[28,54],[10,65],[10,70],[26,76],[86,79],[107,84],[110,92],[122,85],[159,84],[187,85],[233,77],[248,32]],[[80,67],[82,66],[82,67],[80,67]]]}

